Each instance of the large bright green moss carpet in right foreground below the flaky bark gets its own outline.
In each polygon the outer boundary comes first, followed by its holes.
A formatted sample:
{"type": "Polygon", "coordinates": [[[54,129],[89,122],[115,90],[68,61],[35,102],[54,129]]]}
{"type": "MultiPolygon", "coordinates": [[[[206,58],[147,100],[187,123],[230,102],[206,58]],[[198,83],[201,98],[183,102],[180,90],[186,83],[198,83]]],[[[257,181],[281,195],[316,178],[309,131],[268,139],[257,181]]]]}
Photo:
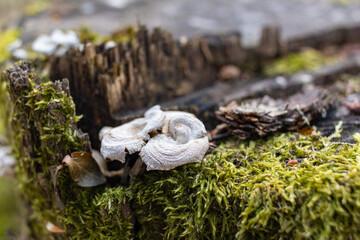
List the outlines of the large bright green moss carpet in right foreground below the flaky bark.
{"type": "Polygon", "coordinates": [[[138,237],[359,238],[359,143],[331,138],[230,140],[206,163],[146,174],[130,187],[138,237]]]}

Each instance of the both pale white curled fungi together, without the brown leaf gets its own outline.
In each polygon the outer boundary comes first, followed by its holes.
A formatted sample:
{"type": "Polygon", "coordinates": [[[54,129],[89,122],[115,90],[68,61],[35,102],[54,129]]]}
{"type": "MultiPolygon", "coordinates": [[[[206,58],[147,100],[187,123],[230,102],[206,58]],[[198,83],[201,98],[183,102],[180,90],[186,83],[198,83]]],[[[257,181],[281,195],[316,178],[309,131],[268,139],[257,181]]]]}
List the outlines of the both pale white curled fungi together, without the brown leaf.
{"type": "Polygon", "coordinates": [[[99,137],[104,159],[124,163],[127,155],[139,153],[148,171],[199,162],[209,148],[205,126],[195,115],[163,112],[158,105],[145,112],[144,118],[103,128],[99,137]]]}

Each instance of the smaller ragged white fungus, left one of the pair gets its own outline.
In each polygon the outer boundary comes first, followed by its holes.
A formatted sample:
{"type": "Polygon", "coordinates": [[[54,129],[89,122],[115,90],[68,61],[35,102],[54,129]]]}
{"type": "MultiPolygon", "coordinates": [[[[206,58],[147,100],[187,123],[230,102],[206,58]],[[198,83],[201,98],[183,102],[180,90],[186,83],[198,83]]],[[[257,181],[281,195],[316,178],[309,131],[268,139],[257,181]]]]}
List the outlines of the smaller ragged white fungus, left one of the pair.
{"type": "Polygon", "coordinates": [[[115,128],[105,127],[99,134],[101,155],[106,160],[119,160],[124,163],[127,154],[140,152],[145,141],[150,138],[149,133],[161,129],[164,120],[165,114],[157,105],[146,111],[144,118],[115,128]]]}

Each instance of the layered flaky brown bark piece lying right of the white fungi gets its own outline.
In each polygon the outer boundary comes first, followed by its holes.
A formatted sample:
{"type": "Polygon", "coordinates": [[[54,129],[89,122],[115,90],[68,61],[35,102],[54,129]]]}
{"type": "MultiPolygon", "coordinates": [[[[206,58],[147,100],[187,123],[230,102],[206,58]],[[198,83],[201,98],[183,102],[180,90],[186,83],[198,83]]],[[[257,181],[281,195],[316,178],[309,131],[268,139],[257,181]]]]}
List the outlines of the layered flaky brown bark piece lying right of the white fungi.
{"type": "Polygon", "coordinates": [[[285,100],[264,96],[241,104],[231,102],[216,114],[234,135],[247,140],[310,125],[314,119],[326,117],[330,105],[326,91],[312,89],[285,100]]]}

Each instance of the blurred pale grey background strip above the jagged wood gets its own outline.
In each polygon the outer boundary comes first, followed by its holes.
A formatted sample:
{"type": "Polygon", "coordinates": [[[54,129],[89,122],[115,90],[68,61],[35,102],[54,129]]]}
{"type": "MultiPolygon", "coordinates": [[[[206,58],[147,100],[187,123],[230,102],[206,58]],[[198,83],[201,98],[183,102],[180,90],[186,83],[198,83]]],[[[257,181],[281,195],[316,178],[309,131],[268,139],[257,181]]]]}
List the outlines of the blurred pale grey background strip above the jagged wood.
{"type": "Polygon", "coordinates": [[[356,0],[1,0],[0,14],[0,26],[21,27],[26,41],[55,28],[108,34],[140,22],[175,37],[239,31],[252,44],[264,25],[288,38],[360,21],[356,0]]]}

